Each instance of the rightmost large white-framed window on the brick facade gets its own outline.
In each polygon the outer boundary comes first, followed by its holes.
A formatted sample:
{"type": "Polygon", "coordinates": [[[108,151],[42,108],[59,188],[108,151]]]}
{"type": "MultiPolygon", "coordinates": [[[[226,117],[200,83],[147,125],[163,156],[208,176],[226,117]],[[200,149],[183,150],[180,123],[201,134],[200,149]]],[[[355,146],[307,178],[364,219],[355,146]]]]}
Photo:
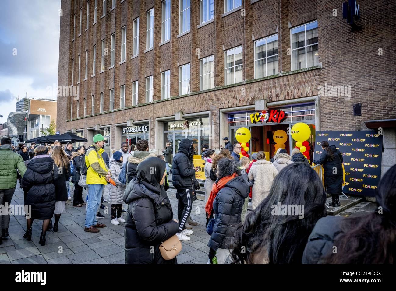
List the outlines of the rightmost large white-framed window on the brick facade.
{"type": "Polygon", "coordinates": [[[291,70],[319,64],[318,21],[295,27],[291,33],[291,70]]]}

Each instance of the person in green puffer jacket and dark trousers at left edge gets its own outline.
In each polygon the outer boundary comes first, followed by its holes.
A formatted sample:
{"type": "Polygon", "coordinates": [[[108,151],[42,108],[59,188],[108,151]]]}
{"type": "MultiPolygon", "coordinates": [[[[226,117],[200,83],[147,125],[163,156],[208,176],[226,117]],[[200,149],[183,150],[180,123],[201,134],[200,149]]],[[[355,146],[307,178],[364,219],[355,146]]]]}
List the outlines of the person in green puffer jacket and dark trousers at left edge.
{"type": "MultiPolygon", "coordinates": [[[[23,158],[12,150],[11,139],[4,137],[0,141],[0,204],[10,203],[17,186],[17,169],[21,177],[25,174],[26,167],[23,158]]],[[[10,226],[10,215],[2,215],[0,212],[0,245],[3,238],[8,236],[8,227],[10,226]]]]}

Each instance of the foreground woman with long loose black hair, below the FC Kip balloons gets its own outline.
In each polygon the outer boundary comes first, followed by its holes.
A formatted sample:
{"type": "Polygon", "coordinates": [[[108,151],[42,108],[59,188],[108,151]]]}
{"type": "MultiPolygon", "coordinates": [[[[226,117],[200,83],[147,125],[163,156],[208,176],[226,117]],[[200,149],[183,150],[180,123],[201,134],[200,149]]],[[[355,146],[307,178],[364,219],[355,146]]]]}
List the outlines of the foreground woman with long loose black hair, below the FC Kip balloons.
{"type": "Polygon", "coordinates": [[[301,264],[309,234],[326,216],[325,201],[322,182],[307,164],[284,168],[276,175],[267,198],[235,231],[234,262],[301,264]],[[293,211],[285,213],[284,207],[293,211]]]}

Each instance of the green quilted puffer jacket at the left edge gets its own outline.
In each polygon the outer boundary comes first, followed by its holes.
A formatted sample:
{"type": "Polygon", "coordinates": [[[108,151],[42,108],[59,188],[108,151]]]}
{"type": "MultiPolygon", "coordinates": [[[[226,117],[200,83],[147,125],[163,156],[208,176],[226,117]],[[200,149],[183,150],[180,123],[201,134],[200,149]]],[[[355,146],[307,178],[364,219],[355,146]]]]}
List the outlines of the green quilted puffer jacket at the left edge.
{"type": "Polygon", "coordinates": [[[1,145],[0,189],[11,189],[17,186],[17,169],[23,177],[26,167],[22,156],[14,152],[11,145],[1,145]]]}

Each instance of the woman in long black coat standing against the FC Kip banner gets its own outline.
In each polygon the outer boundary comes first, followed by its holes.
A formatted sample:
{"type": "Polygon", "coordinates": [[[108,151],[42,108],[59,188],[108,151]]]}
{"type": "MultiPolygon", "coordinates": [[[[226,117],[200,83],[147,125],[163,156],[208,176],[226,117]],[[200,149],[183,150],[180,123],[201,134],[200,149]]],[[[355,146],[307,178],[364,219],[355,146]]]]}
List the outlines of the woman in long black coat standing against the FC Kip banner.
{"type": "Polygon", "coordinates": [[[324,184],[326,194],[331,194],[332,202],[330,206],[340,206],[339,195],[343,192],[343,156],[334,145],[329,146],[327,141],[320,143],[323,152],[319,160],[314,160],[315,164],[321,164],[324,169],[324,184]]]}

